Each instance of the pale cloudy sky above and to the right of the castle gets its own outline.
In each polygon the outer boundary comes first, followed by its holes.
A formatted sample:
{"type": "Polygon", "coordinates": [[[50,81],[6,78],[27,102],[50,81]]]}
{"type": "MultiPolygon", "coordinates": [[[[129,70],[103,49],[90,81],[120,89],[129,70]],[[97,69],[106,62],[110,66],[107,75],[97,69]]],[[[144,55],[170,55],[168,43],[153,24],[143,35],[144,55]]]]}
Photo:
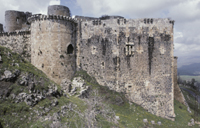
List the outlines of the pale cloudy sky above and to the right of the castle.
{"type": "Polygon", "coordinates": [[[3,24],[6,10],[47,14],[50,4],[69,7],[72,15],[171,18],[175,20],[174,55],[178,56],[178,66],[200,63],[200,0],[0,0],[0,3],[3,24]]]}

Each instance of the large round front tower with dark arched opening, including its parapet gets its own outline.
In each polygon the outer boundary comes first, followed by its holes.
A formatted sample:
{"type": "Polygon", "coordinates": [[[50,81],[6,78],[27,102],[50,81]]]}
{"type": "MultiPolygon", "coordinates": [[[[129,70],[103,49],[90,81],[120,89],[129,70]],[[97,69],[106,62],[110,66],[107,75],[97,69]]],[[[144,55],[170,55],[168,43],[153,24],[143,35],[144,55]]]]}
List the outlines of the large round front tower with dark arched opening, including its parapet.
{"type": "Polygon", "coordinates": [[[31,22],[31,63],[60,84],[76,71],[76,21],[71,17],[40,15],[31,22]]]}

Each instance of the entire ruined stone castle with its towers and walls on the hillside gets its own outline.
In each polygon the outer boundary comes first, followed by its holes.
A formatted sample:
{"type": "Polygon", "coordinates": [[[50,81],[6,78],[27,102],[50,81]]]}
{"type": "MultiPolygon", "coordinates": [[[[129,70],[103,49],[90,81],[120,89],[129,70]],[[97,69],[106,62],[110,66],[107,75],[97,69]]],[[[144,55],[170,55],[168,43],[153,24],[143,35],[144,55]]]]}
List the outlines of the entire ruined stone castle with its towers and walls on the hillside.
{"type": "Polygon", "coordinates": [[[21,54],[60,84],[85,70],[99,84],[123,92],[149,112],[174,119],[177,57],[173,56],[174,21],[70,15],[52,5],[48,15],[8,10],[0,45],[21,54]]]}

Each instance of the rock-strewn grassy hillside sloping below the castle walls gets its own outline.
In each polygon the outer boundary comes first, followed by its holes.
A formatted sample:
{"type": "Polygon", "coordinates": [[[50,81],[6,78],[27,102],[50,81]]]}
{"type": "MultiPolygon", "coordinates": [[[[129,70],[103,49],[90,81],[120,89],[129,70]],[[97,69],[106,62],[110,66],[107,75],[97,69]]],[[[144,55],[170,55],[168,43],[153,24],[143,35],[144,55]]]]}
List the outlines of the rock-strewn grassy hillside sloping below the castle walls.
{"type": "Polygon", "coordinates": [[[187,108],[176,100],[175,121],[152,115],[139,105],[129,103],[123,93],[99,85],[85,71],[76,72],[74,76],[84,79],[85,86],[90,88],[87,97],[79,98],[78,91],[74,95],[64,93],[60,85],[56,85],[44,73],[9,49],[0,47],[0,55],[3,60],[0,63],[0,75],[4,75],[6,70],[14,72],[18,69],[21,72],[15,79],[0,81],[1,90],[5,90],[0,96],[0,127],[187,128],[192,118],[187,108]],[[17,64],[13,66],[13,62],[17,64]],[[28,75],[28,85],[20,85],[26,74],[32,74],[28,75]],[[35,87],[31,91],[33,81],[35,87]],[[9,93],[5,93],[8,90],[9,93]],[[24,93],[43,98],[34,105],[28,105],[25,100],[19,101],[16,98],[24,93]],[[143,119],[148,122],[144,123],[143,119]],[[151,121],[155,121],[155,124],[151,124],[151,121]],[[162,124],[158,125],[158,121],[162,124]]]}

